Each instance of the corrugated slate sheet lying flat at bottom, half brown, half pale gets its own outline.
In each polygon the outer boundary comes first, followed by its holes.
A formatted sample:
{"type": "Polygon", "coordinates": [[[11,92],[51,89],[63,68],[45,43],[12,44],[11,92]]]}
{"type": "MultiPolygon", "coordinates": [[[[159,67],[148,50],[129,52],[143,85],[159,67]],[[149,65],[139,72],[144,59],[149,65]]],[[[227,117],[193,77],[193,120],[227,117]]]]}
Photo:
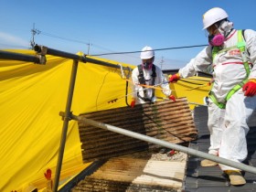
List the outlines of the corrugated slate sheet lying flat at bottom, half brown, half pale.
{"type": "Polygon", "coordinates": [[[185,162],[155,161],[132,155],[112,157],[72,188],[81,191],[180,191],[185,162]]]}

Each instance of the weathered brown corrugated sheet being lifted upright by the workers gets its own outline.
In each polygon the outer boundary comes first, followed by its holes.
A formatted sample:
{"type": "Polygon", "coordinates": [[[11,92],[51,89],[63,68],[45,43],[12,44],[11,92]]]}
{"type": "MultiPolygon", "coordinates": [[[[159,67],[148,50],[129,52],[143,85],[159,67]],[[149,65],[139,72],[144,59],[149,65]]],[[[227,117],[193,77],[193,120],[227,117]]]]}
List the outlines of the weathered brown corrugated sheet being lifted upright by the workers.
{"type": "MultiPolygon", "coordinates": [[[[197,138],[197,130],[186,98],[122,107],[80,116],[111,124],[135,133],[142,133],[174,144],[197,138]]],[[[159,147],[123,134],[112,133],[79,122],[83,162],[127,155],[159,147]]]]}

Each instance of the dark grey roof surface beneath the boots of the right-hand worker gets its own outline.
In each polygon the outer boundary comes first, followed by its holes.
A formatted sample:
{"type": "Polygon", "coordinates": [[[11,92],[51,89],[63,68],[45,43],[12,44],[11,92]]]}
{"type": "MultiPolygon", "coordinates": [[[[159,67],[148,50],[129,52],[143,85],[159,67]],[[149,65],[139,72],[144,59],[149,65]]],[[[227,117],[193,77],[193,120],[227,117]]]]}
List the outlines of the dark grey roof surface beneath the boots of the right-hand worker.
{"type": "MultiPolygon", "coordinates": [[[[208,153],[209,132],[208,132],[208,108],[196,107],[194,119],[197,127],[197,141],[189,144],[190,148],[208,153]]],[[[243,162],[247,165],[256,165],[256,113],[253,113],[250,121],[250,132],[247,135],[248,158],[243,162]]],[[[226,192],[226,191],[256,191],[256,175],[244,173],[247,184],[241,187],[230,186],[229,179],[222,174],[219,166],[202,167],[202,159],[190,156],[187,161],[187,176],[184,183],[185,191],[191,192],[226,192]]]]}

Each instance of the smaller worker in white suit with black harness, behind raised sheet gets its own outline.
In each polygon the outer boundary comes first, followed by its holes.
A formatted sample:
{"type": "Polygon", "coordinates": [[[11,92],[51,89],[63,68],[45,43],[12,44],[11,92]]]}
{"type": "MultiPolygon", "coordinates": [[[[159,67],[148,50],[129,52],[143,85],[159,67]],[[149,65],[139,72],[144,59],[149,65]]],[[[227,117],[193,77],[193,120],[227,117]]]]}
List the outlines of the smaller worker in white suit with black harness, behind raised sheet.
{"type": "Polygon", "coordinates": [[[150,86],[160,86],[163,93],[170,100],[176,101],[171,95],[168,81],[162,70],[155,66],[155,51],[153,48],[145,46],[141,51],[142,64],[133,69],[133,98],[131,107],[135,104],[156,101],[155,89],[150,86]]]}

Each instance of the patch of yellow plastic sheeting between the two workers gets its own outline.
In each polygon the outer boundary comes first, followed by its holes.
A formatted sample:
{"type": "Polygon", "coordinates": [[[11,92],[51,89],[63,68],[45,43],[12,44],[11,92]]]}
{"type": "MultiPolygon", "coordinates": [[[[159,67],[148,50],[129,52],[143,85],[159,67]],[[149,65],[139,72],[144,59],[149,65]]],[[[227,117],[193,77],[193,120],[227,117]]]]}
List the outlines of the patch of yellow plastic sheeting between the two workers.
{"type": "Polygon", "coordinates": [[[195,106],[204,104],[204,97],[208,96],[210,91],[209,81],[210,78],[194,76],[170,83],[170,88],[174,90],[173,94],[177,98],[187,97],[190,109],[193,110],[195,106]]]}

